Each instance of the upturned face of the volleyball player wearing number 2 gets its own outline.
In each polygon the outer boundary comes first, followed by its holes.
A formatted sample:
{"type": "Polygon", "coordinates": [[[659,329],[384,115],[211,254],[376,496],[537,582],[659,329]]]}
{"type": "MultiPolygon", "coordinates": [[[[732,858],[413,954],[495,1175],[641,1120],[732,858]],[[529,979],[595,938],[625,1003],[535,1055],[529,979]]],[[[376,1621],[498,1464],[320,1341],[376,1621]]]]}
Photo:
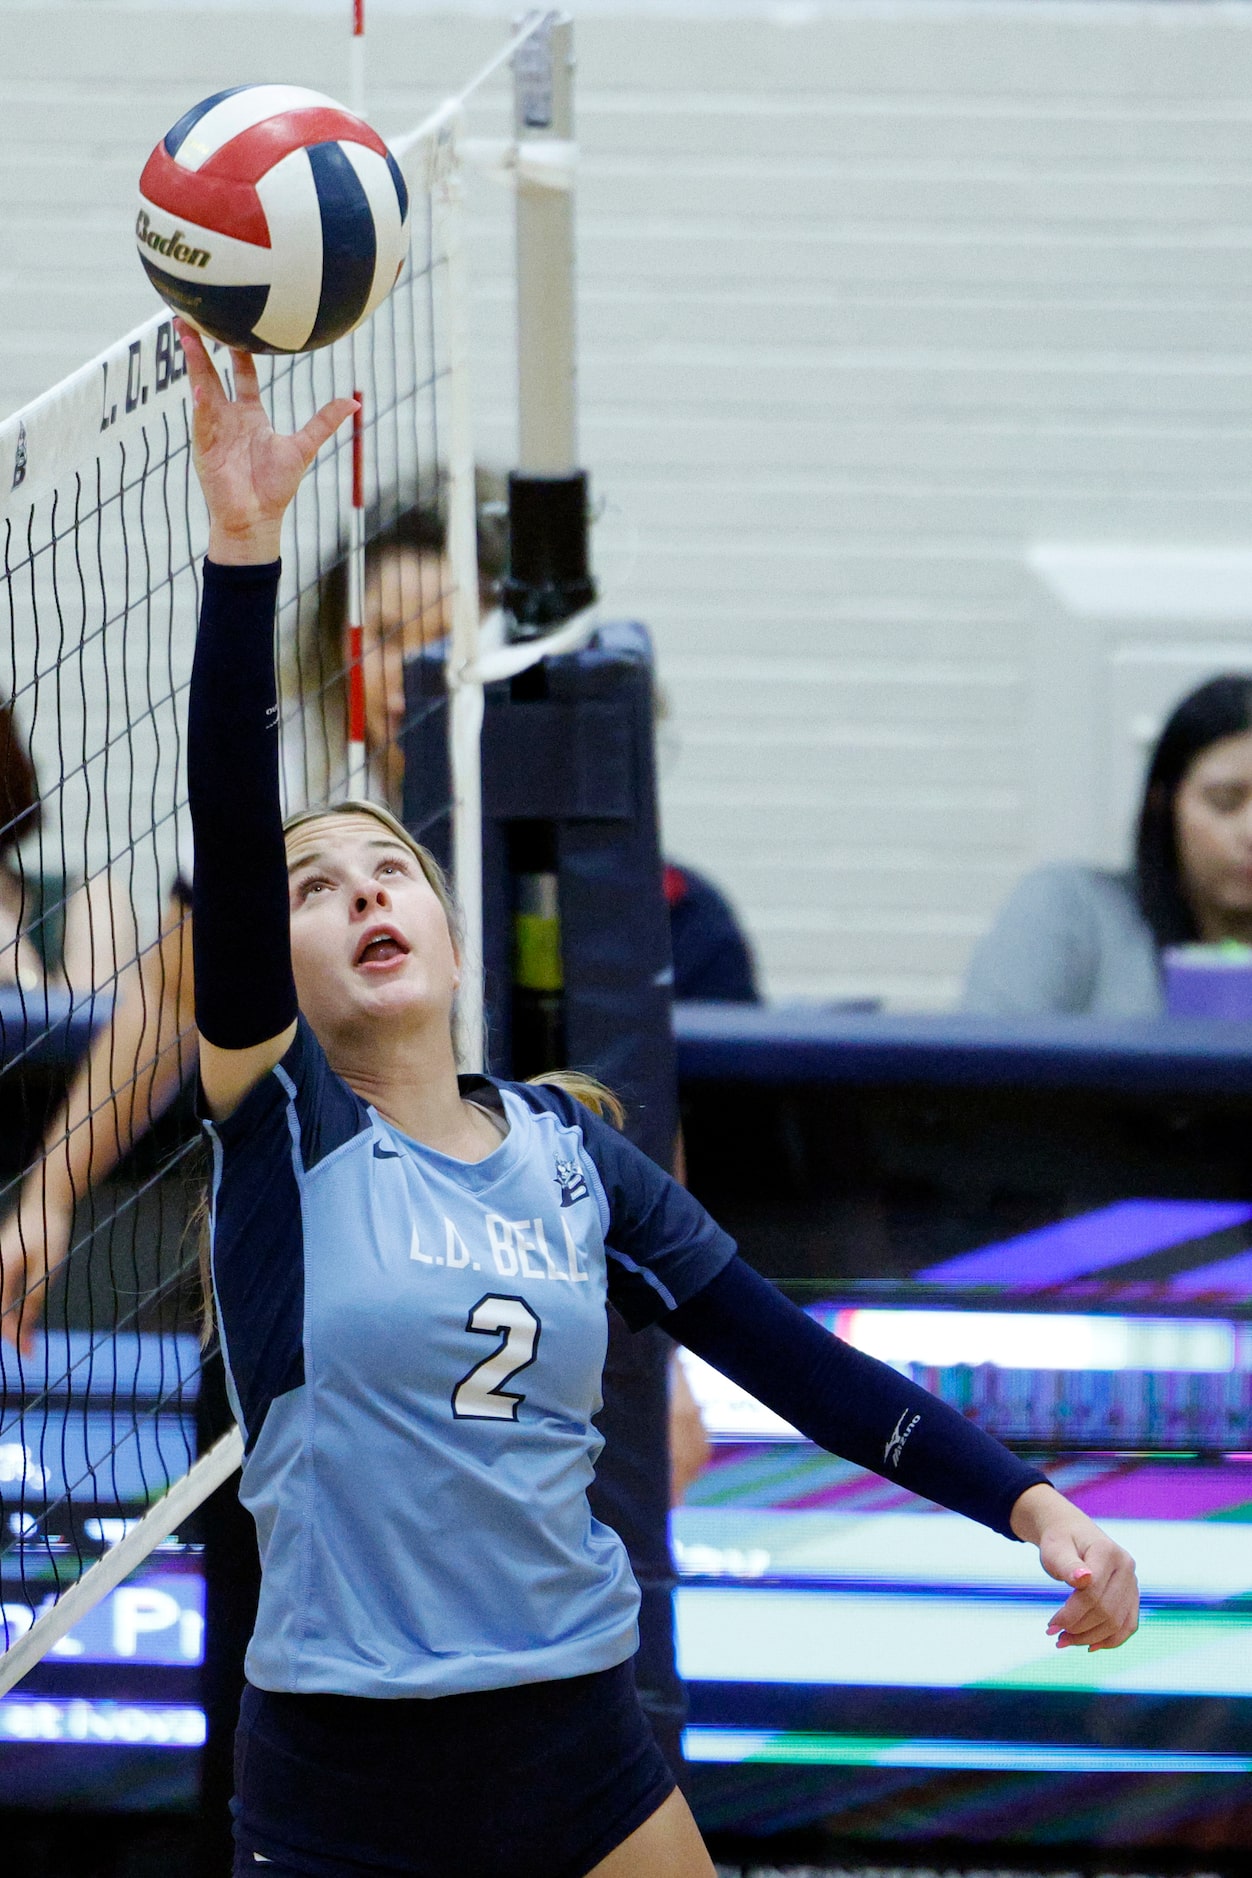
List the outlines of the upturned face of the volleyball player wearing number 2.
{"type": "Polygon", "coordinates": [[[332,1048],[379,1022],[450,1027],[460,962],[417,860],[374,815],[327,815],[287,838],[300,1010],[332,1048]]]}

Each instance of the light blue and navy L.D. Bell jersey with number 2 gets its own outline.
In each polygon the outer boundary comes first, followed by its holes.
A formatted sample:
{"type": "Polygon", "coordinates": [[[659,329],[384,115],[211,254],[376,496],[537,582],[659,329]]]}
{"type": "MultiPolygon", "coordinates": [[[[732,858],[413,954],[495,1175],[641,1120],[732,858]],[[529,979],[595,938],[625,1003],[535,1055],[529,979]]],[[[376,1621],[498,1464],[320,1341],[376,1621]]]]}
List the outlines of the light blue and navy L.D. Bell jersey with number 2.
{"type": "Polygon", "coordinates": [[[636,1328],[732,1241],[556,1089],[471,1078],[475,1164],[398,1134],[297,1040],[214,1142],[214,1292],[263,1589],[248,1679],[445,1696],[636,1647],[588,1510],[606,1298],[636,1328]]]}

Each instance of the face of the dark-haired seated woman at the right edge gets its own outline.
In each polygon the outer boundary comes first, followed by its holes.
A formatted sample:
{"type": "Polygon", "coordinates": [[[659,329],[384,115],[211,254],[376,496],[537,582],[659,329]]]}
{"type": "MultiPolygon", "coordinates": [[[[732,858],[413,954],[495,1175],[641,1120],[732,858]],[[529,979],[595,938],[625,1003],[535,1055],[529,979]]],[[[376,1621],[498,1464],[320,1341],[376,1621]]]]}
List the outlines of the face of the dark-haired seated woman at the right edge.
{"type": "Polygon", "coordinates": [[[1179,871],[1201,937],[1252,915],[1252,731],[1201,751],[1175,796],[1179,871]]]}

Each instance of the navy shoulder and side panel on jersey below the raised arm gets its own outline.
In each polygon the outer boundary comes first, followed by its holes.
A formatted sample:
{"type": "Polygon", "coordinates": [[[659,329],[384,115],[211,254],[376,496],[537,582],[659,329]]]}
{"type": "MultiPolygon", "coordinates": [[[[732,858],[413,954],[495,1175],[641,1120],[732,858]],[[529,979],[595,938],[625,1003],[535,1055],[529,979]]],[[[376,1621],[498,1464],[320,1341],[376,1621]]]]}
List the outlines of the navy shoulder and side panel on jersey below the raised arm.
{"type": "Polygon", "coordinates": [[[214,1294],[248,1448],[274,1397],[304,1382],[300,1176],[368,1127],[304,1018],[282,1063],[208,1123],[214,1294]]]}

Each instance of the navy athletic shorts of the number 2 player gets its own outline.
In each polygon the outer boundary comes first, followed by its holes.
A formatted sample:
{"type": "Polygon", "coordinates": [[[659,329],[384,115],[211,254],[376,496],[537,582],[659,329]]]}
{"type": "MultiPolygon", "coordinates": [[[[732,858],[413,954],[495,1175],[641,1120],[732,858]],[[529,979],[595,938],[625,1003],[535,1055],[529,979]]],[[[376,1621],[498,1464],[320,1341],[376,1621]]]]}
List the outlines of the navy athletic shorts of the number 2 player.
{"type": "Polygon", "coordinates": [[[631,1662],[434,1700],[248,1686],[235,1874],[584,1878],[672,1790],[631,1662]]]}

